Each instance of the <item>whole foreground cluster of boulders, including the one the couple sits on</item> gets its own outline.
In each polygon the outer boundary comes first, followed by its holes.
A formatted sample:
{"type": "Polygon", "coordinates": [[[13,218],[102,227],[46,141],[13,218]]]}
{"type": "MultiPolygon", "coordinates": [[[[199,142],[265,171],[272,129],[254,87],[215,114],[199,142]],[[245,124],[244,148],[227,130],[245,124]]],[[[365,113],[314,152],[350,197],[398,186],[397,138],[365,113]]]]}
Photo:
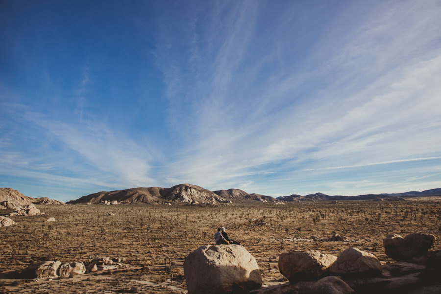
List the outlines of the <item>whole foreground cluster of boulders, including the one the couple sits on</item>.
{"type": "Polygon", "coordinates": [[[429,250],[434,241],[430,234],[389,235],[384,239],[385,253],[397,262],[383,264],[375,255],[354,247],[339,256],[319,251],[282,253],[278,266],[289,283],[269,287],[261,287],[256,260],[244,247],[206,245],[186,257],[184,275],[189,294],[401,293],[439,283],[441,250],[429,250]]]}

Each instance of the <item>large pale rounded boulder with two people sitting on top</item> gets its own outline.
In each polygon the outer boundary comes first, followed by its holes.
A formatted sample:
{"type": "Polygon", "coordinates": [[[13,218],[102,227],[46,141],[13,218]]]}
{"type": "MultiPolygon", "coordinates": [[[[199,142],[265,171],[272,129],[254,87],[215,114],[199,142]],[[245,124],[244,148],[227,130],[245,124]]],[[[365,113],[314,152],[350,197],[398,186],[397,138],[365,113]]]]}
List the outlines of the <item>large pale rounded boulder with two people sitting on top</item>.
{"type": "Polygon", "coordinates": [[[241,245],[206,245],[185,258],[189,294],[250,291],[262,286],[256,259],[241,245]]]}

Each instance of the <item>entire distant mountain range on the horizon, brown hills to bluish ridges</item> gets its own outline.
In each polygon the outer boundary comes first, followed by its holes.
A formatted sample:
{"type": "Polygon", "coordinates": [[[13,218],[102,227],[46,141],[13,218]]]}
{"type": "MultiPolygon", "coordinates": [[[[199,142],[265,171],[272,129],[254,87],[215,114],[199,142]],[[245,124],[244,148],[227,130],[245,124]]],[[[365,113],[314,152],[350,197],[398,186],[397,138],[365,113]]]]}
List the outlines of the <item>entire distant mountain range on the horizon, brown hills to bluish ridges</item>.
{"type": "Polygon", "coordinates": [[[246,202],[300,202],[300,201],[344,201],[344,200],[402,200],[406,197],[441,196],[441,188],[422,192],[411,191],[392,194],[366,194],[358,196],[327,195],[323,193],[308,194],[305,196],[293,194],[273,198],[271,196],[248,193],[240,189],[210,191],[190,184],[180,184],[171,188],[149,187],[131,188],[115,191],[101,191],[83,196],[67,203],[189,203],[189,204],[216,204],[216,203],[246,203],[246,202]]]}

